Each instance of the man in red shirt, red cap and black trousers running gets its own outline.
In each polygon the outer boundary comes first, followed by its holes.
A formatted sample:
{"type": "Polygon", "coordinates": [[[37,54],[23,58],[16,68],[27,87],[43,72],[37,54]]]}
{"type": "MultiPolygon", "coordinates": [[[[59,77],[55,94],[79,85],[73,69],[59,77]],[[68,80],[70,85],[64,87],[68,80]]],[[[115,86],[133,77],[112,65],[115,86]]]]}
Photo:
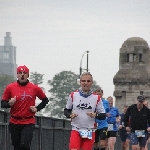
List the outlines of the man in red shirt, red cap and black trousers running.
{"type": "Polygon", "coordinates": [[[35,113],[43,109],[48,98],[40,87],[29,82],[29,69],[17,68],[17,82],[10,83],[4,90],[1,107],[10,108],[9,131],[14,150],[30,150],[35,129],[35,113]],[[38,97],[42,102],[36,107],[38,97]]]}

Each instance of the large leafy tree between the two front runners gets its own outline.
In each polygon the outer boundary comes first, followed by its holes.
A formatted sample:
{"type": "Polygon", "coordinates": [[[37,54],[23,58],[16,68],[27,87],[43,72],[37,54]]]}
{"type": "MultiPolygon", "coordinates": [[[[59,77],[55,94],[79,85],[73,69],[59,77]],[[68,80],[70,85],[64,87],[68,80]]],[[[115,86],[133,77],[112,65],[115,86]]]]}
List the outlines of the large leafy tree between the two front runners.
{"type": "MultiPolygon", "coordinates": [[[[50,103],[45,108],[45,113],[49,116],[63,118],[63,110],[69,94],[80,87],[77,83],[78,77],[79,75],[71,71],[62,71],[56,74],[52,80],[48,81],[52,88],[48,91],[51,94],[51,98],[50,103]]],[[[99,87],[95,81],[93,87],[99,87]]]]}

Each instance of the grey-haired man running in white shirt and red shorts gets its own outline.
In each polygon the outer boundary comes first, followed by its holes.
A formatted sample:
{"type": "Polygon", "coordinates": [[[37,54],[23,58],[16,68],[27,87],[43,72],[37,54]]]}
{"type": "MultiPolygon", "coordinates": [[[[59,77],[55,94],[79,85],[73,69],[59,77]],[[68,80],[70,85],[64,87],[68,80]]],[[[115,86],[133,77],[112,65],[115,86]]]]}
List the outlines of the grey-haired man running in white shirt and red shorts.
{"type": "Polygon", "coordinates": [[[69,95],[64,114],[71,118],[72,131],[69,150],[92,150],[95,139],[95,117],[105,119],[106,113],[100,96],[93,94],[92,75],[86,72],[81,75],[81,88],[69,95]]]}

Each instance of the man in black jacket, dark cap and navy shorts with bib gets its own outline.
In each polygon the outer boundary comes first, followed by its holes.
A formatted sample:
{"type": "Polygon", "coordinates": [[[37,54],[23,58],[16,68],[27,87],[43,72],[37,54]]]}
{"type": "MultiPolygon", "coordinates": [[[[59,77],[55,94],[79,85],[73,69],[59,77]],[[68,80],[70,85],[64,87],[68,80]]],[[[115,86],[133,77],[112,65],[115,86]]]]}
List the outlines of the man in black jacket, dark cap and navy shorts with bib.
{"type": "Polygon", "coordinates": [[[127,132],[131,132],[132,150],[145,150],[148,132],[150,131],[150,109],[143,103],[145,97],[137,97],[137,103],[129,106],[124,116],[124,125],[127,132]]]}

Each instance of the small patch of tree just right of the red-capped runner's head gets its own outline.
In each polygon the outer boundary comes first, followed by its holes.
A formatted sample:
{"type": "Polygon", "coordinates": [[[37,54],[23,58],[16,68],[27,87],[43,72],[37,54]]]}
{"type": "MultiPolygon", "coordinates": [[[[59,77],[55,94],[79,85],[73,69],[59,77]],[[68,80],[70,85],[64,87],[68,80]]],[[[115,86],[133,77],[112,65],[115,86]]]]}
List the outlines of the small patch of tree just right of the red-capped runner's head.
{"type": "MultiPolygon", "coordinates": [[[[30,81],[33,82],[34,84],[41,85],[43,83],[43,76],[44,76],[44,74],[40,74],[37,72],[31,72],[30,81]]],[[[44,90],[43,87],[41,87],[41,88],[44,90]]]]}

